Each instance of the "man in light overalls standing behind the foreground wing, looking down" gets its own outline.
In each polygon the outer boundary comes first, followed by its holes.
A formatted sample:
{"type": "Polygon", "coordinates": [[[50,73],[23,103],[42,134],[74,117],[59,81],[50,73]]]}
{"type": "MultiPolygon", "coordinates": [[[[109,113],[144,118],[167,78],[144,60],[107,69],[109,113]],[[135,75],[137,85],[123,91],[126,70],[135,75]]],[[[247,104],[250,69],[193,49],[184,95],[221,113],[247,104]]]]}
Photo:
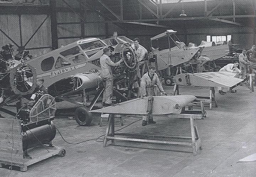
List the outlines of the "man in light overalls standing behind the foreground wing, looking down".
{"type": "MultiPolygon", "coordinates": [[[[142,92],[142,97],[149,97],[149,96],[158,96],[156,95],[156,91],[154,86],[156,85],[160,92],[164,95],[167,95],[162,88],[162,84],[158,78],[158,75],[155,73],[156,68],[150,67],[149,71],[142,76],[140,82],[140,89],[142,92]]],[[[156,122],[153,121],[152,115],[144,115],[142,116],[142,126],[147,125],[147,123],[155,124],[156,122]]]]}

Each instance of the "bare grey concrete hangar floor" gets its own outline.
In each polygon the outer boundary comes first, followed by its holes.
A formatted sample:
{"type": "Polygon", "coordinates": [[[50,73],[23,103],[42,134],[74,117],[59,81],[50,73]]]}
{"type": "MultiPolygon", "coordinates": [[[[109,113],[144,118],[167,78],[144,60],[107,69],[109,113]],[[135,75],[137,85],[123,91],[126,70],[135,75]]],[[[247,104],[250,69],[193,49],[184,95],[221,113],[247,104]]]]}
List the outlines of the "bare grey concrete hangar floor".
{"type": "MultiPolygon", "coordinates": [[[[173,87],[165,87],[173,92],[173,87]]],[[[207,96],[208,89],[180,87],[182,95],[207,96]]],[[[57,133],[53,144],[63,146],[66,156],[53,156],[28,167],[28,171],[11,171],[10,176],[255,176],[256,161],[237,161],[256,153],[256,96],[245,86],[237,93],[217,93],[218,108],[205,105],[207,117],[196,120],[203,150],[193,156],[192,148],[174,145],[117,142],[103,148],[102,142],[89,141],[78,145],[65,143],[57,133]],[[147,149],[150,148],[150,149],[147,149]]],[[[70,107],[71,105],[66,105],[70,107]]],[[[57,115],[54,123],[68,142],[80,142],[105,134],[105,126],[97,125],[97,117],[90,127],[79,126],[71,115],[57,115]]],[[[126,117],[124,124],[139,118],[126,117]]],[[[189,135],[187,119],[155,117],[154,125],[141,126],[138,121],[121,132],[156,135],[189,135]],[[171,133],[171,134],[170,134],[171,133]]],[[[120,129],[116,120],[116,130],[120,129]]],[[[47,153],[47,152],[46,152],[47,153]]],[[[1,168],[0,176],[10,170],[1,168]]]]}

